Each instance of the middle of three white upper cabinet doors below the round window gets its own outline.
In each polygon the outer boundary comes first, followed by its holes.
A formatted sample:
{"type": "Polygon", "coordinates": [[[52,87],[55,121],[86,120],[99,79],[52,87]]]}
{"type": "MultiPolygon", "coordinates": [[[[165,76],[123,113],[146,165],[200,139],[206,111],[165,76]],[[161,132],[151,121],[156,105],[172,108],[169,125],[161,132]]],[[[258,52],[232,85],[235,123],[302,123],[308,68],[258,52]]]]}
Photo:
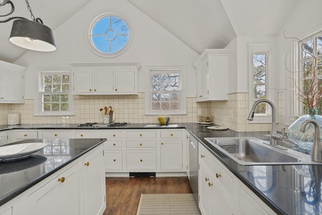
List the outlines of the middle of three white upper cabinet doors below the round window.
{"type": "Polygon", "coordinates": [[[113,93],[114,92],[114,70],[94,69],[94,92],[95,93],[113,93]]]}

